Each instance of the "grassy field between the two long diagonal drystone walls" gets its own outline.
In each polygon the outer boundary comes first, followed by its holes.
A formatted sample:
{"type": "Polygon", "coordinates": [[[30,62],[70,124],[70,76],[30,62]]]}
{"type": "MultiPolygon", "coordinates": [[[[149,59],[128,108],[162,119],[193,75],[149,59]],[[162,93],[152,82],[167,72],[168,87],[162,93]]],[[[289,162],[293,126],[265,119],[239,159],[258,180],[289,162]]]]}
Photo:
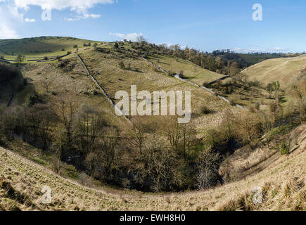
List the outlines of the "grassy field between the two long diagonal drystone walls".
{"type": "MultiPolygon", "coordinates": [[[[191,91],[193,114],[191,123],[199,133],[204,133],[207,129],[217,127],[222,121],[224,110],[239,110],[217,98],[217,96],[213,96],[208,91],[181,82],[163,72],[156,71],[151,63],[141,58],[121,58],[109,53],[97,53],[92,49],[79,52],[79,56],[84,59],[84,63],[87,64],[91,73],[115,102],[117,102],[115,100],[116,92],[123,90],[130,95],[132,85],[136,85],[137,91],[146,90],[151,94],[153,94],[153,91],[191,91]],[[118,65],[120,62],[124,63],[125,68],[120,68],[118,65]],[[204,105],[214,113],[203,115],[200,111],[204,105]]],[[[168,56],[161,57],[170,62],[174,60],[168,56]]],[[[202,72],[207,71],[198,68],[193,63],[182,60],[181,65],[176,67],[178,72],[184,70],[186,64],[189,65],[189,68],[197,68],[198,72],[200,70],[202,72]]],[[[210,77],[210,79],[215,79],[215,77],[210,77]]]]}

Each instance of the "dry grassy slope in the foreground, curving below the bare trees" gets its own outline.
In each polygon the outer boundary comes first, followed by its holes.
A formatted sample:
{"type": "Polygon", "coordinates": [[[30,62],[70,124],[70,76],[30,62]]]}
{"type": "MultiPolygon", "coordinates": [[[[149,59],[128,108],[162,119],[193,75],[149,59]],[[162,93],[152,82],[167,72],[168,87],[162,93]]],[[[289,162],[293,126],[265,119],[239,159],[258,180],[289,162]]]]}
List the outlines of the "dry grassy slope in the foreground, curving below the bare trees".
{"type": "MultiPolygon", "coordinates": [[[[208,191],[153,195],[92,189],[0,148],[0,210],[306,210],[305,125],[290,157],[281,156],[246,179],[208,191]],[[42,188],[51,188],[51,204],[42,188]],[[263,202],[253,203],[253,188],[263,202]]],[[[267,149],[266,149],[267,150],[267,149]]]]}

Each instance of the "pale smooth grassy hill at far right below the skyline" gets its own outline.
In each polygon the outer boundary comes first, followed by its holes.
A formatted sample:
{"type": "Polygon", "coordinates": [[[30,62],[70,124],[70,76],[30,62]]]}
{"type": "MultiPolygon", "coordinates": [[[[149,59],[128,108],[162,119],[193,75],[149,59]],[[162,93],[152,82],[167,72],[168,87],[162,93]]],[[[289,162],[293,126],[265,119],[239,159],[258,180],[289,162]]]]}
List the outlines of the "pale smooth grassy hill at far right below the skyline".
{"type": "Polygon", "coordinates": [[[306,66],[306,55],[292,58],[276,58],[264,60],[262,63],[246,68],[242,73],[248,75],[250,80],[258,80],[264,84],[279,81],[281,88],[286,89],[300,70],[306,66]]]}

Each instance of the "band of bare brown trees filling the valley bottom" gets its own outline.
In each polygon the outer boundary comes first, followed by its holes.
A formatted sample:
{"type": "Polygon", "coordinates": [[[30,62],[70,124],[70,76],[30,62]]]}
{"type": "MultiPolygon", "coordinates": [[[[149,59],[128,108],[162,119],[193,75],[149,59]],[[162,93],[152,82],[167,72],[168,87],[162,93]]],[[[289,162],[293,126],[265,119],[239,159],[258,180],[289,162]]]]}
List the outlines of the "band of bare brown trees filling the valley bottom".
{"type": "MultiPolygon", "coordinates": [[[[305,98],[305,89],[296,90],[297,98],[301,93],[305,98]]],[[[224,155],[238,145],[264,144],[260,137],[293,113],[279,105],[269,113],[234,115],[226,110],[220,127],[197,139],[190,124],[178,124],[174,117],[134,118],[133,127],[118,129],[102,119],[98,108],[71,101],[0,111],[1,143],[19,137],[96,179],[142,191],[204,189],[222,183],[218,168],[224,155]]],[[[267,137],[265,144],[269,141],[267,137]]]]}

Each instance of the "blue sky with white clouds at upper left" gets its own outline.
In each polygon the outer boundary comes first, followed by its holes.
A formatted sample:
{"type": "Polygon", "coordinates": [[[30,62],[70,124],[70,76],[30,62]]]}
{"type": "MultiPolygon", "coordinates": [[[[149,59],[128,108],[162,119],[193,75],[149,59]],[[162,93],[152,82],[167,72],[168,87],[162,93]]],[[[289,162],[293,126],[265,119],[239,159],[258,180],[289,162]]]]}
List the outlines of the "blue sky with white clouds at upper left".
{"type": "Polygon", "coordinates": [[[305,0],[0,0],[0,39],[144,36],[200,51],[303,52],[305,22],[305,0]]]}

